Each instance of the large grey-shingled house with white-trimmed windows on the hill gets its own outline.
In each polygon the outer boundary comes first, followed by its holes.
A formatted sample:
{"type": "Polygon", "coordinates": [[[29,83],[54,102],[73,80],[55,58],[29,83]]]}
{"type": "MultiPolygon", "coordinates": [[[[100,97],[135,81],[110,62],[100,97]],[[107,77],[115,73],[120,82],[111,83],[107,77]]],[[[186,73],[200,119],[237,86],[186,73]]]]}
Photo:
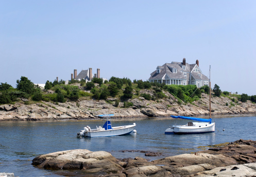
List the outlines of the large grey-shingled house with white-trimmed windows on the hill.
{"type": "Polygon", "coordinates": [[[157,66],[156,70],[150,74],[149,82],[159,82],[175,85],[196,85],[201,87],[208,85],[210,80],[203,75],[199,68],[199,61],[195,64],[186,63],[183,58],[182,62],[165,63],[157,66]]]}

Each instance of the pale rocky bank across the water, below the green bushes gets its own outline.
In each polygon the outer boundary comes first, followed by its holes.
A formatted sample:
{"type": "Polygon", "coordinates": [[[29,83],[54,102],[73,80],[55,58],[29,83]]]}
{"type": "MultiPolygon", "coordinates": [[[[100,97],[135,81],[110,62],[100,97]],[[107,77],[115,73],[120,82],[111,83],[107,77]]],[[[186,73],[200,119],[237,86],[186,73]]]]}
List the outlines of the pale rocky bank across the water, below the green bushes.
{"type": "MultiPolygon", "coordinates": [[[[150,94],[146,90],[145,92],[150,94]]],[[[207,94],[202,94],[201,99],[192,104],[184,102],[179,104],[173,95],[168,92],[164,94],[167,98],[157,101],[145,100],[143,97],[127,100],[133,104],[130,108],[123,108],[123,102],[120,102],[116,108],[115,99],[78,100],[57,104],[42,101],[29,105],[21,100],[15,104],[0,105],[0,121],[95,119],[96,115],[100,114],[114,114],[115,118],[209,115],[209,95],[207,94]]],[[[212,97],[211,109],[212,115],[255,114],[256,104],[251,101],[235,103],[228,97],[212,97]]]]}

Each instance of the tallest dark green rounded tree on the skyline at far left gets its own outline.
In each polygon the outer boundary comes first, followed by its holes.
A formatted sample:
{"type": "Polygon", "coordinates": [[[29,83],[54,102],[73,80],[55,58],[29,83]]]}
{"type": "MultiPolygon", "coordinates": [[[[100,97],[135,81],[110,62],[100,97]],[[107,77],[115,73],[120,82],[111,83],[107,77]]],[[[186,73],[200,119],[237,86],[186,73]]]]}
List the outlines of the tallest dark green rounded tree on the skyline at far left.
{"type": "Polygon", "coordinates": [[[22,76],[21,80],[17,80],[16,82],[17,82],[18,90],[28,93],[28,94],[32,94],[32,93],[36,92],[35,84],[33,84],[33,82],[28,80],[28,78],[22,76]]]}

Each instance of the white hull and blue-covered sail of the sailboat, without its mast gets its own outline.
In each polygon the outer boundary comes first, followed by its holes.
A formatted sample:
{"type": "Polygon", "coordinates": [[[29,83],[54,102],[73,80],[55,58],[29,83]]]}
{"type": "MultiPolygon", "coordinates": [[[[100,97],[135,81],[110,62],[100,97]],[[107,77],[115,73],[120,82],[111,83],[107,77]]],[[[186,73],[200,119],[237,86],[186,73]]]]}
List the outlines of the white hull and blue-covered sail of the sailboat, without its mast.
{"type": "Polygon", "coordinates": [[[215,122],[212,119],[203,119],[196,117],[171,116],[173,118],[196,120],[201,122],[187,122],[186,125],[174,125],[165,130],[165,134],[196,134],[211,133],[215,131],[215,122]]]}

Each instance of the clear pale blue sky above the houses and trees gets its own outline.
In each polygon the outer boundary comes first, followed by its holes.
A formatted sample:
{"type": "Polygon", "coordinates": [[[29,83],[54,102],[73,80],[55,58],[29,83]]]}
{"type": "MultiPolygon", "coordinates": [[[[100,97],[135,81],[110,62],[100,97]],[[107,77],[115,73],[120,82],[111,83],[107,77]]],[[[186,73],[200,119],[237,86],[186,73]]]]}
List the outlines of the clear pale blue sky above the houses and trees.
{"type": "Polygon", "coordinates": [[[0,0],[0,82],[71,78],[77,69],[147,80],[199,60],[212,87],[256,95],[256,1],[0,0]]]}

